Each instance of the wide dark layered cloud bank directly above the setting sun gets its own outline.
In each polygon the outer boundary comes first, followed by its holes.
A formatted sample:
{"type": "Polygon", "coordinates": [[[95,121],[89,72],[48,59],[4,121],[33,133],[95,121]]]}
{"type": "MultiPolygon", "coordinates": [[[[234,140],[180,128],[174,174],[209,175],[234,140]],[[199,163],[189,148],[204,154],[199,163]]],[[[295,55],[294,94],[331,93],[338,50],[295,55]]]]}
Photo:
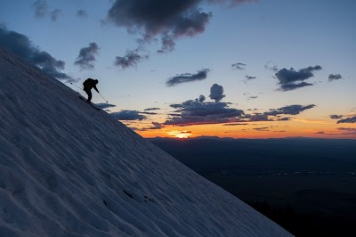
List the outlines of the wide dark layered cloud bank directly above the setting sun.
{"type": "Polygon", "coordinates": [[[190,100],[182,104],[172,104],[174,118],[166,120],[166,125],[189,126],[201,124],[229,123],[239,120],[243,110],[228,107],[226,102],[198,102],[190,100]]]}

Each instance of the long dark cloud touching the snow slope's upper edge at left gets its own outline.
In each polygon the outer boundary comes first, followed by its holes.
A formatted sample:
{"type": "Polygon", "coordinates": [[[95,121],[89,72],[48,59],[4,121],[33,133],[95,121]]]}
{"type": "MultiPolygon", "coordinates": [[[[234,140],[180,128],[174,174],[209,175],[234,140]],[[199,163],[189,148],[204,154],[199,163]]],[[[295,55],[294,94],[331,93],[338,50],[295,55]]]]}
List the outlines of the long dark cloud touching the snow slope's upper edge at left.
{"type": "Polygon", "coordinates": [[[67,82],[76,81],[74,78],[60,71],[64,69],[64,61],[56,60],[50,53],[40,51],[25,35],[9,31],[0,26],[0,45],[10,52],[16,53],[20,57],[34,63],[53,78],[66,80],[67,82]]]}

